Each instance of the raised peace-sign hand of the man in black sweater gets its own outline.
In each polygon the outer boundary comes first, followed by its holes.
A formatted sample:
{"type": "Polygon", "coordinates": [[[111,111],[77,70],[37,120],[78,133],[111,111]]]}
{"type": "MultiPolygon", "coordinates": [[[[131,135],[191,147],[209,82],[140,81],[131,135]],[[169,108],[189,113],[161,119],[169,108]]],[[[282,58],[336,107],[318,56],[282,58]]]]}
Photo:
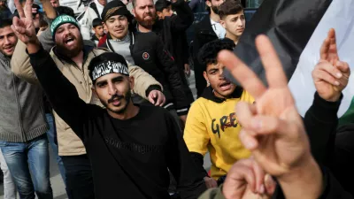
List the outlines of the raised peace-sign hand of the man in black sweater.
{"type": "Polygon", "coordinates": [[[19,40],[24,43],[35,43],[38,41],[35,34],[35,25],[32,15],[33,0],[27,0],[25,10],[19,3],[19,0],[15,0],[17,11],[19,11],[19,18],[14,17],[12,19],[12,30],[18,36],[19,40]]]}

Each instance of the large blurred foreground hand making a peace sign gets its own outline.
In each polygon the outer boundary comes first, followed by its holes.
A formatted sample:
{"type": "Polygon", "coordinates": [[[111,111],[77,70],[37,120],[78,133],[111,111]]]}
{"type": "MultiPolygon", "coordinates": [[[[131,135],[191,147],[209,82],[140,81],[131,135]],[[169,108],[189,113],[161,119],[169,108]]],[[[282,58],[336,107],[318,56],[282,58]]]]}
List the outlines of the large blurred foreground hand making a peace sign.
{"type": "Polygon", "coordinates": [[[265,35],[257,37],[256,46],[266,69],[269,88],[232,52],[219,53],[219,63],[226,65],[256,99],[255,104],[237,104],[236,115],[242,125],[240,139],[252,151],[258,164],[280,181],[286,198],[317,198],[322,175],[311,155],[304,124],[296,111],[281,61],[265,35]],[[296,182],[299,184],[294,184],[296,182]],[[306,190],[296,193],[304,185],[306,190]]]}

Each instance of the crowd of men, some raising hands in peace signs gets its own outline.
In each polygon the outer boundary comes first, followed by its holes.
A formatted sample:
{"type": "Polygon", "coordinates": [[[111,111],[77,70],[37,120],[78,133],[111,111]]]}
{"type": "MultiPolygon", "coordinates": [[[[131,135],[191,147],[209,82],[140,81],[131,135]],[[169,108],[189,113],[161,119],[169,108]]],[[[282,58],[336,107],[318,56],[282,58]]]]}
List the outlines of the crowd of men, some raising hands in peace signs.
{"type": "Polygon", "coordinates": [[[5,199],[53,198],[49,148],[69,199],[353,198],[352,125],[337,128],[350,67],[334,29],[302,118],[265,35],[267,86],[232,52],[246,28],[238,0],[205,0],[192,43],[199,0],[94,0],[78,16],[40,3],[0,0],[5,199]]]}

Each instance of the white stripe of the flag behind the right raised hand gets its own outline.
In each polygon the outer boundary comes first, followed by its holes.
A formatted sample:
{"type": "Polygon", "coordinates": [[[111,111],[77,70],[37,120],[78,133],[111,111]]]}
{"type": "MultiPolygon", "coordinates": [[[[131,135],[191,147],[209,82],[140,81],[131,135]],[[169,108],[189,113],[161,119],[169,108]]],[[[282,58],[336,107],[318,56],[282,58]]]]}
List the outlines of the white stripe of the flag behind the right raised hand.
{"type": "Polygon", "coordinates": [[[349,108],[354,96],[354,0],[334,0],[320,20],[300,56],[295,73],[289,81],[289,88],[296,100],[296,106],[302,116],[312,105],[315,87],[312,70],[319,61],[319,48],[330,28],[335,28],[337,48],[342,61],[348,62],[352,75],[348,87],[343,90],[343,99],[338,111],[341,117],[349,108]]]}

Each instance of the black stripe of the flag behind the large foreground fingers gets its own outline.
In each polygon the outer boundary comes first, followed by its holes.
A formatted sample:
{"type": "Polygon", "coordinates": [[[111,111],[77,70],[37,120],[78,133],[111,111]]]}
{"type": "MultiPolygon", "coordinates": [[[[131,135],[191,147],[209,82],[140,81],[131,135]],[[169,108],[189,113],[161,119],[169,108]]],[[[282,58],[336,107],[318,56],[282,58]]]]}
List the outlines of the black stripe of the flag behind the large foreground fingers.
{"type": "MultiPolygon", "coordinates": [[[[288,80],[319,20],[332,0],[265,0],[253,15],[237,43],[235,54],[250,65],[266,83],[265,70],[258,56],[255,38],[266,34],[273,42],[288,80]]],[[[238,84],[226,71],[227,79],[238,84]]]]}

